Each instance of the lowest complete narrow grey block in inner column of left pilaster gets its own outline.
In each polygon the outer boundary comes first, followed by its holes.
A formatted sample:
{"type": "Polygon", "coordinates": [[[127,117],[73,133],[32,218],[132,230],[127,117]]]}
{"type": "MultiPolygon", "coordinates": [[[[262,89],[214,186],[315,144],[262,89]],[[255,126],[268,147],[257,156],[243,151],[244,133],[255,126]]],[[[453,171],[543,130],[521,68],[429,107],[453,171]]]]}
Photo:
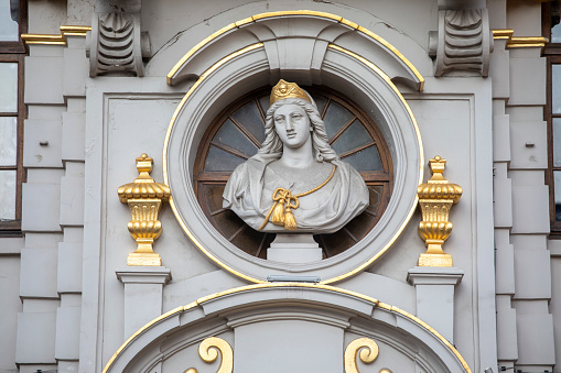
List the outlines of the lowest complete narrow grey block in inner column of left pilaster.
{"type": "Polygon", "coordinates": [[[77,360],[79,358],[80,314],[82,307],[60,307],[56,310],[56,359],[77,360]]]}

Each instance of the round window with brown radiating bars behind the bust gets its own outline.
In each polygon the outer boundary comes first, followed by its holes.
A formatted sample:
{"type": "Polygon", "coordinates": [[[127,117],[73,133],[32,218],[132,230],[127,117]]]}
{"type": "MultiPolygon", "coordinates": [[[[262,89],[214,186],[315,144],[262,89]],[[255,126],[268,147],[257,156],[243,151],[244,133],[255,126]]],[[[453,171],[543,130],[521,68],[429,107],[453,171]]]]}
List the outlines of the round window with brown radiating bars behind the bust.
{"type": "MultiPolygon", "coordinates": [[[[349,99],[325,87],[303,87],[322,114],[330,145],[339,158],[360,173],[369,190],[369,206],[343,229],[314,239],[331,257],[353,246],[378,222],[392,189],[388,145],[374,121],[349,99]]],[[[274,233],[251,229],[223,208],[223,191],[231,172],[255,155],[265,140],[265,117],[271,87],[255,90],[228,106],[209,125],[194,165],[194,188],[212,224],[235,246],[266,259],[274,233]]]]}

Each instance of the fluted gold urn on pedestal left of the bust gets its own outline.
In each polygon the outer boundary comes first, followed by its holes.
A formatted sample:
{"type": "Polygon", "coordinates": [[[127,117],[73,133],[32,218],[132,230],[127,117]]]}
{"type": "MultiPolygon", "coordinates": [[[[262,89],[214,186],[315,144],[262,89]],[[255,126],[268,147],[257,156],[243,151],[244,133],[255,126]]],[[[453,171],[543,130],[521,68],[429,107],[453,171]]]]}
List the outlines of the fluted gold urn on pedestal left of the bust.
{"type": "Polygon", "coordinates": [[[170,199],[170,188],[165,184],[155,183],[150,173],[153,161],[147,154],[137,158],[138,178],[117,189],[119,200],[128,204],[132,220],[129,221],[130,235],[137,241],[137,251],[127,257],[127,265],[162,265],[160,254],[154,253],[153,244],[162,234],[162,223],[158,213],[162,204],[170,199]]]}

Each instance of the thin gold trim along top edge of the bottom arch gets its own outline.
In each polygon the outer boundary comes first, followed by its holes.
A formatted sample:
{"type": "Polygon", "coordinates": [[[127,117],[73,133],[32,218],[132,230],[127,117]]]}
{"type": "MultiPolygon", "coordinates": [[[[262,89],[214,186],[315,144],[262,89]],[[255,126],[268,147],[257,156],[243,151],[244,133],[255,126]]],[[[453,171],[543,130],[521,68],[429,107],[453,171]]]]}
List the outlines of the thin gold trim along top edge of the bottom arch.
{"type": "MultiPolygon", "coordinates": [[[[247,292],[247,290],[262,289],[262,288],[276,288],[276,287],[316,288],[316,289],[330,290],[330,292],[334,292],[334,293],[338,293],[338,294],[344,294],[344,295],[350,295],[350,296],[355,296],[355,297],[357,297],[359,299],[369,301],[369,303],[371,303],[376,307],[386,309],[386,310],[388,310],[390,312],[399,314],[399,315],[403,316],[404,318],[411,320],[412,322],[421,326],[423,329],[425,329],[428,332],[430,332],[436,339],[439,339],[456,356],[456,359],[460,361],[460,363],[462,364],[462,366],[464,367],[466,373],[472,373],[472,370],[467,365],[466,361],[460,354],[460,352],[452,345],[452,343],[450,343],[444,337],[442,337],[441,333],[439,333],[434,328],[429,326],[427,322],[424,322],[423,320],[421,320],[417,316],[413,316],[413,315],[409,314],[408,311],[404,311],[404,310],[402,310],[402,309],[400,309],[398,307],[395,307],[395,306],[381,303],[381,301],[379,301],[376,298],[369,297],[367,295],[364,295],[364,294],[360,294],[360,293],[357,293],[357,292],[347,290],[347,289],[344,289],[344,288],[341,288],[341,287],[336,287],[336,286],[331,286],[331,285],[306,284],[306,283],[265,283],[265,284],[246,285],[246,286],[235,287],[235,288],[230,288],[230,289],[227,289],[227,290],[223,290],[223,292],[218,292],[218,293],[215,293],[215,294],[211,294],[211,295],[201,297],[197,300],[190,303],[188,305],[180,306],[177,308],[174,308],[174,309],[172,309],[172,310],[170,310],[170,311],[168,311],[168,312],[157,317],[155,319],[153,319],[152,321],[148,322],[142,328],[137,330],[132,336],[130,336],[125,341],[125,343],[122,343],[119,347],[119,349],[117,349],[117,351],[112,354],[112,356],[109,359],[109,361],[105,365],[105,367],[101,371],[101,373],[107,373],[109,371],[109,369],[111,367],[111,365],[114,364],[115,360],[122,353],[122,351],[125,351],[125,349],[127,349],[129,347],[129,344],[131,344],[147,329],[151,328],[152,326],[154,326],[154,325],[157,325],[157,323],[159,323],[159,322],[161,322],[161,321],[163,321],[163,320],[165,320],[165,319],[168,319],[170,317],[179,316],[179,315],[181,315],[181,314],[183,314],[183,312],[185,312],[185,311],[187,311],[187,310],[190,310],[192,308],[195,308],[195,307],[197,307],[197,306],[199,306],[199,305],[202,305],[202,304],[204,304],[206,301],[214,300],[214,299],[217,299],[217,298],[223,297],[223,296],[227,296],[227,295],[231,295],[231,294],[237,294],[237,293],[242,293],[242,292],[247,292]]],[[[384,371],[380,371],[380,373],[384,373],[384,371]]]]}

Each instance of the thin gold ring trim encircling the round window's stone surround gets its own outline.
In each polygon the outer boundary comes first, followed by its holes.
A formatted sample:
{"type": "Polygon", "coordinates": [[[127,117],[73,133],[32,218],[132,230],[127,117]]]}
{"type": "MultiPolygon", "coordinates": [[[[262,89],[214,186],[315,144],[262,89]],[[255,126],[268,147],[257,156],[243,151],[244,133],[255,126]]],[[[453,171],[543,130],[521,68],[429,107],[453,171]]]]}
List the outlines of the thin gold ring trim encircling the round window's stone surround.
{"type": "MultiPolygon", "coordinates": [[[[233,58],[235,58],[237,56],[240,56],[240,55],[242,55],[245,53],[248,53],[250,51],[253,51],[253,50],[260,48],[260,47],[263,47],[263,43],[256,43],[256,44],[246,46],[245,48],[241,48],[241,50],[239,50],[237,52],[234,52],[234,53],[229,54],[228,56],[222,58],[220,61],[215,63],[213,66],[211,66],[206,72],[204,72],[199,76],[199,78],[193,84],[193,86],[188,89],[188,91],[185,94],[185,96],[181,100],[180,105],[175,109],[175,112],[173,113],[173,117],[172,117],[172,119],[170,121],[170,125],[168,127],[168,133],[165,134],[164,146],[163,146],[163,155],[162,155],[162,158],[163,158],[163,179],[164,179],[165,185],[168,185],[168,186],[170,185],[170,182],[169,182],[169,178],[168,178],[168,145],[169,145],[169,142],[170,142],[170,138],[171,138],[171,133],[172,133],[172,130],[173,130],[173,125],[175,124],[175,121],[176,121],[180,112],[182,111],[183,106],[187,101],[187,99],[196,90],[196,88],[201,85],[201,83],[204,79],[206,79],[206,77],[208,77],[208,75],[211,75],[213,72],[215,72],[218,67],[220,67],[222,65],[224,65],[225,63],[227,63],[228,61],[230,61],[230,59],[233,59],[233,58]]],[[[411,108],[407,103],[406,99],[403,98],[403,96],[401,95],[399,89],[396,87],[396,85],[391,81],[390,77],[386,73],[384,73],[378,66],[376,66],[374,63],[371,63],[370,61],[366,59],[365,57],[362,57],[362,56],[357,55],[356,53],[347,51],[347,50],[345,50],[345,48],[343,48],[343,47],[341,47],[338,45],[335,45],[335,44],[330,44],[327,47],[332,48],[332,50],[336,50],[336,51],[338,51],[341,53],[347,54],[347,55],[352,56],[353,58],[357,59],[358,62],[365,64],[373,72],[375,72],[377,75],[379,75],[386,81],[386,84],[388,84],[388,86],[396,92],[398,98],[401,100],[401,102],[403,103],[407,112],[409,113],[409,117],[411,118],[411,121],[412,121],[412,123],[414,125],[414,131],[417,133],[417,140],[418,140],[418,143],[419,143],[419,160],[420,160],[420,162],[419,162],[419,182],[418,182],[418,184],[421,184],[422,180],[423,180],[423,174],[424,174],[424,151],[423,151],[423,145],[422,145],[421,132],[419,130],[419,125],[417,124],[417,120],[414,119],[413,112],[411,111],[411,108]]],[[[396,242],[396,240],[401,235],[401,233],[403,232],[406,227],[409,224],[409,221],[411,220],[411,218],[412,218],[412,216],[414,213],[414,210],[417,208],[417,204],[418,204],[418,197],[416,197],[413,204],[411,205],[411,208],[409,210],[408,216],[406,217],[406,219],[403,220],[403,222],[399,227],[398,231],[393,234],[393,237],[390,239],[390,241],[378,253],[376,253],[373,257],[370,257],[368,261],[366,261],[362,265],[357,266],[356,268],[354,268],[354,270],[352,270],[352,271],[349,271],[349,272],[347,272],[347,273],[345,273],[343,275],[339,275],[339,276],[336,276],[336,277],[332,277],[332,278],[327,278],[325,281],[322,281],[321,283],[322,284],[331,284],[331,283],[335,283],[335,282],[338,282],[338,281],[345,279],[345,278],[347,278],[349,276],[353,276],[353,275],[359,273],[360,271],[365,270],[369,265],[371,265],[376,260],[378,260],[378,257],[380,257],[387,250],[389,250],[389,248],[391,248],[393,242],[396,242]]],[[[173,200],[173,196],[170,196],[170,206],[171,206],[172,211],[173,211],[175,218],[177,219],[181,228],[183,229],[183,231],[187,234],[187,237],[191,239],[191,241],[208,259],[211,259],[214,263],[216,263],[220,267],[225,268],[229,273],[231,273],[231,274],[234,274],[234,275],[236,275],[236,276],[238,276],[240,278],[244,278],[244,279],[247,279],[249,282],[257,283],[257,284],[266,283],[266,281],[263,281],[263,279],[259,279],[259,278],[255,278],[255,277],[248,276],[248,275],[246,275],[246,274],[244,274],[244,273],[241,273],[241,272],[230,267],[229,265],[227,265],[226,263],[223,263],[220,260],[218,260],[216,256],[214,256],[208,250],[206,250],[203,246],[203,244],[201,242],[198,242],[198,240],[194,237],[194,234],[187,228],[187,226],[185,224],[185,222],[183,221],[183,219],[180,216],[177,207],[175,206],[175,202],[173,200]]]]}

